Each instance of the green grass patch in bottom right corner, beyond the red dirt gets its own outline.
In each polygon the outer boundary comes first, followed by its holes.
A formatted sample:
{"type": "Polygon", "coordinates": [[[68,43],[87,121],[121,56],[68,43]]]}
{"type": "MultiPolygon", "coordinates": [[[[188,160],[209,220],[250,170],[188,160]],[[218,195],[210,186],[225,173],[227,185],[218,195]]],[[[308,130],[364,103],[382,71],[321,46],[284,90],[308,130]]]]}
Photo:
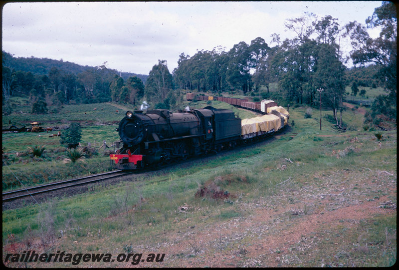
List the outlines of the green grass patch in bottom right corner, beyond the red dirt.
{"type": "MultiPolygon", "coordinates": [[[[305,263],[293,267],[390,267],[396,263],[397,223],[395,216],[377,216],[372,220],[363,219],[348,228],[345,222],[337,229],[325,228],[316,232],[314,253],[306,251],[305,263]],[[334,239],[334,241],[332,241],[334,239]],[[337,247],[336,242],[347,245],[337,247]]],[[[298,247],[296,247],[298,248],[298,247]]],[[[302,255],[303,256],[303,255],[302,255]]]]}

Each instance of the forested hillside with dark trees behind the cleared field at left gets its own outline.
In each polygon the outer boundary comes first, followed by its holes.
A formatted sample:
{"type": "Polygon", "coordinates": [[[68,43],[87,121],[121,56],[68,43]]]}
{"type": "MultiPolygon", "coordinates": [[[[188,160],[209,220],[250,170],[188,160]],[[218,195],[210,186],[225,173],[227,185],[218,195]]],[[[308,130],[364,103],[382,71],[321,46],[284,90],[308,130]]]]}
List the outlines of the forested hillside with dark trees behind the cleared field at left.
{"type": "MultiPolygon", "coordinates": [[[[148,75],[119,72],[101,66],[81,66],[48,58],[13,57],[2,51],[3,113],[11,112],[6,102],[11,96],[29,96],[33,104],[43,104],[35,113],[57,112],[59,106],[70,103],[95,103],[129,100],[130,93],[112,99],[110,85],[118,78],[122,81],[136,78],[143,85],[148,75]],[[44,101],[44,103],[43,103],[44,101]],[[52,106],[48,110],[47,106],[52,106]]],[[[123,83],[124,84],[124,83],[123,83]]],[[[114,94],[115,96],[115,94],[114,94]]]]}

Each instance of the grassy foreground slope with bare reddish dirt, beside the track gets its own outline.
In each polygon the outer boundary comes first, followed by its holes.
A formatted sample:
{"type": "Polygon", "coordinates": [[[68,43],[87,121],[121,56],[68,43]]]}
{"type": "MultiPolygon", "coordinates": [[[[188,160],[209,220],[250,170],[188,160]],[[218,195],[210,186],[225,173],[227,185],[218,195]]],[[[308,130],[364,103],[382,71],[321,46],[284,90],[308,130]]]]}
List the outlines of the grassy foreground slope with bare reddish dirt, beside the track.
{"type": "Polygon", "coordinates": [[[167,267],[393,265],[396,211],[381,203],[397,203],[396,130],[378,142],[347,110],[349,131],[324,118],[320,131],[319,114],[305,111],[290,109],[289,132],[231,155],[3,211],[3,254],[154,252],[164,263],[148,266],[167,267]],[[201,189],[208,195],[196,196],[201,189]]]}

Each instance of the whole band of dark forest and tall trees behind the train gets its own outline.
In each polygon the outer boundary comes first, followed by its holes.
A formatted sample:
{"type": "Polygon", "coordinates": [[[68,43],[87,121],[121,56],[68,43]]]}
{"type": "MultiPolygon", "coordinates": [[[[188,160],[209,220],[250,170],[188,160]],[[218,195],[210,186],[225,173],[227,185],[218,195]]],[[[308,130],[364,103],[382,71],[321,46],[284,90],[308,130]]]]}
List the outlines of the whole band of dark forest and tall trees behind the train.
{"type": "Polygon", "coordinates": [[[166,60],[160,59],[148,78],[108,69],[105,63],[89,67],[46,58],[15,58],[3,52],[3,113],[11,112],[7,100],[13,95],[28,95],[32,106],[45,101],[54,106],[50,112],[56,112],[60,104],[108,101],[135,108],[147,101],[152,108],[174,110],[179,108],[182,90],[188,90],[236,93],[311,107],[319,105],[320,97],[322,106],[333,112],[337,126],[345,130],[342,111],[347,97],[368,98],[366,90],[359,87],[381,87],[384,94],[376,95],[366,122],[396,125],[397,18],[392,2],[384,1],[376,8],[366,25],[356,21],[339,25],[330,15],[319,18],[305,13],[287,19],[285,28],[296,36],[281,40],[274,33],[270,44],[256,37],[250,44],[240,41],[227,51],[216,46],[212,51],[198,50],[193,56],[182,53],[172,73],[166,60]],[[380,36],[371,38],[367,28],[376,27],[381,29],[380,36]],[[343,38],[351,40],[355,67],[350,69],[344,65],[348,59],[340,46],[343,38]],[[277,85],[273,92],[271,84],[277,85]],[[323,91],[319,94],[317,89],[323,91]]]}

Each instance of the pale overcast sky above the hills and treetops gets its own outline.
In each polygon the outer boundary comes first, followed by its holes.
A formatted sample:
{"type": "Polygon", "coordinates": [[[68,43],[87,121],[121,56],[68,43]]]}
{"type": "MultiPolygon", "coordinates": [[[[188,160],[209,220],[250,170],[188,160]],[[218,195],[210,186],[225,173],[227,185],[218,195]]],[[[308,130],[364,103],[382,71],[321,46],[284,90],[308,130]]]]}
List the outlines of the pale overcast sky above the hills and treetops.
{"type": "MultiPolygon", "coordinates": [[[[15,57],[51,58],[148,74],[158,60],[172,73],[181,53],[260,36],[292,38],[284,22],[312,12],[341,26],[365,23],[381,1],[14,2],[2,9],[2,50],[15,57]]],[[[372,35],[377,35],[375,31],[372,35]]]]}

